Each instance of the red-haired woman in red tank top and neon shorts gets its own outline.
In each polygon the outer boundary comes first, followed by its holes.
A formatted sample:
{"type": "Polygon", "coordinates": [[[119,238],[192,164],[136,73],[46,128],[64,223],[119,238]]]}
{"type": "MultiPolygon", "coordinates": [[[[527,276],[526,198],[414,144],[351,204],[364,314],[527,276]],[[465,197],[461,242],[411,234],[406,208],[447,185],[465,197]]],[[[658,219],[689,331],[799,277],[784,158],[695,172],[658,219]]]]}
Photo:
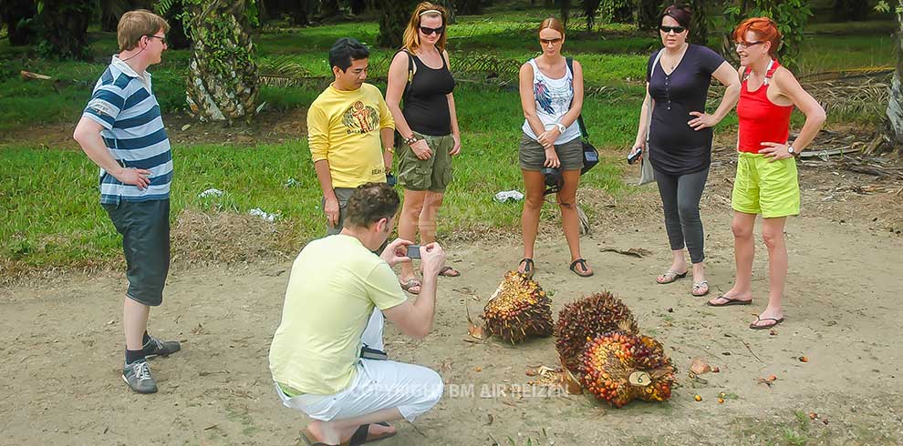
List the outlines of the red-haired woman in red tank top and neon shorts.
{"type": "Polygon", "coordinates": [[[784,320],[781,299],[787,277],[784,224],[799,214],[799,183],[795,157],[812,142],[825,123],[825,110],[806,93],[793,73],[774,58],[781,33],[770,18],[747,19],[733,33],[740,55],[740,101],[737,104],[737,177],[732,208],[734,258],[737,277],[732,289],[709,300],[712,307],[753,302],[753,227],[762,214],[762,238],[768,248],[768,306],[750,324],[769,329],[784,320]],[[793,142],[790,115],[794,106],[805,115],[805,125],[793,142]]]}

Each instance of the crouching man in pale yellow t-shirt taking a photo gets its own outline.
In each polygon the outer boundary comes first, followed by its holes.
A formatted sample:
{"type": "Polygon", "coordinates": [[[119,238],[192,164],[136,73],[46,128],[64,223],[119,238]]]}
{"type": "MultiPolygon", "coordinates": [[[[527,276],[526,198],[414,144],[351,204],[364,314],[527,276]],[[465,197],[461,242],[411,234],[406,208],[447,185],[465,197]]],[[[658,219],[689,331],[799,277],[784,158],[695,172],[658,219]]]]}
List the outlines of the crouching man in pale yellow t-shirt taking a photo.
{"type": "Polygon", "coordinates": [[[315,420],[302,432],[307,444],[394,435],[386,421],[414,421],[441,399],[435,371],[363,355],[364,346],[382,350],[383,315],[417,339],[435,317],[442,248],[420,248],[423,287],[414,301],[391,269],[410,261],[410,241],[397,239],[379,256],[372,252],[389,238],[399,204],[385,183],[355,188],[341,233],[308,243],[292,265],[269,360],[283,404],[315,420]]]}

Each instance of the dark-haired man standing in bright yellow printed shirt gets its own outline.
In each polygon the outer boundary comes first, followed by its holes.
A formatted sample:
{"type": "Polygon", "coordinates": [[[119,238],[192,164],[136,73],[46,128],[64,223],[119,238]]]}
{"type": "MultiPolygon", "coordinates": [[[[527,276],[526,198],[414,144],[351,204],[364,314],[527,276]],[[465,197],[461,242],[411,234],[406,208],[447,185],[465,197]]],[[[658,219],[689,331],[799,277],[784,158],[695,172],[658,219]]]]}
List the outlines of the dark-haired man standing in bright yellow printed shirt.
{"type": "Polygon", "coordinates": [[[364,83],[368,57],[357,40],[338,39],[329,50],[336,80],[307,110],[307,145],[323,189],[328,235],[342,230],[351,191],[385,182],[392,167],[395,122],[379,88],[364,83]]]}

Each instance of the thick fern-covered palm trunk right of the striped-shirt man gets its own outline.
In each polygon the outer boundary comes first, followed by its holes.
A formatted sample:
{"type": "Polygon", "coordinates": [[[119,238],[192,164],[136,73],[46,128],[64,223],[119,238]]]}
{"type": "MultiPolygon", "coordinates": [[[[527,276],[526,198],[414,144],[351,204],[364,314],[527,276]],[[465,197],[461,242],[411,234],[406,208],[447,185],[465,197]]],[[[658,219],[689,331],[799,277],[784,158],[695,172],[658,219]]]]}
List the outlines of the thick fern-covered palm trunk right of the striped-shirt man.
{"type": "Polygon", "coordinates": [[[193,54],[186,94],[192,114],[201,121],[250,119],[256,113],[257,64],[244,0],[187,6],[193,54]]]}

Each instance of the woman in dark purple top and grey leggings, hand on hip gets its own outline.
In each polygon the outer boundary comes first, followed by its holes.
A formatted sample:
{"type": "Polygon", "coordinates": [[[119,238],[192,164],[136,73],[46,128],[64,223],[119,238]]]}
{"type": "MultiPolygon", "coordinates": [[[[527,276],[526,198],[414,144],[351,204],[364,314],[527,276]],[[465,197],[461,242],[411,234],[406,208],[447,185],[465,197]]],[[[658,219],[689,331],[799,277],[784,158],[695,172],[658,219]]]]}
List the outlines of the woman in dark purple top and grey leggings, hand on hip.
{"type": "Polygon", "coordinates": [[[693,263],[693,296],[709,292],[702,260],[702,220],[700,199],[711,162],[711,127],[731,111],[740,96],[737,70],[705,46],[690,45],[687,35],[690,10],[670,5],[659,20],[664,46],[649,57],[646,70],[646,100],[640,114],[637,140],[631,152],[641,150],[649,140],[649,162],[659,184],[665,228],[674,259],[656,281],[670,283],[687,276],[684,247],[693,263]],[[721,105],[705,112],[711,77],[727,86],[721,105]],[[650,102],[651,101],[651,102],[650,102]],[[652,107],[649,126],[648,107],[652,107]],[[647,135],[649,129],[649,135],[647,135]]]}

